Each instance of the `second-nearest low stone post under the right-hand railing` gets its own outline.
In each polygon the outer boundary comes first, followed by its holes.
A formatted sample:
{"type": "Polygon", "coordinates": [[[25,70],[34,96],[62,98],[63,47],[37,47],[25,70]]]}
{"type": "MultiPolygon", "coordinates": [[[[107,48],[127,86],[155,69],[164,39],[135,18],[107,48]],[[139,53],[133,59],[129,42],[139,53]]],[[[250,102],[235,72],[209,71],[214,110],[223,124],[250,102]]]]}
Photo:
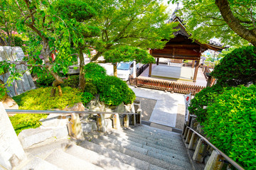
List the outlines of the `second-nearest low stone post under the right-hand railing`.
{"type": "Polygon", "coordinates": [[[193,154],[193,160],[196,162],[203,162],[203,157],[205,156],[207,149],[207,145],[203,143],[202,139],[198,140],[198,144],[196,145],[196,150],[193,154]]]}

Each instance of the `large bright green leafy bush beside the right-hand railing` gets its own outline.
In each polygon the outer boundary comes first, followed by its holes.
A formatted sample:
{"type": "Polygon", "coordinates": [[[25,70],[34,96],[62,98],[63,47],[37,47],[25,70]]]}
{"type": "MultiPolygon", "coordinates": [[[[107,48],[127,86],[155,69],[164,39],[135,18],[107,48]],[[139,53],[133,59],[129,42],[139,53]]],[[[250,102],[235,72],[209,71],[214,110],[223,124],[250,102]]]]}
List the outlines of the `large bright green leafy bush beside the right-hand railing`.
{"type": "Polygon", "coordinates": [[[203,123],[210,142],[245,169],[256,169],[256,86],[225,90],[203,123]]]}

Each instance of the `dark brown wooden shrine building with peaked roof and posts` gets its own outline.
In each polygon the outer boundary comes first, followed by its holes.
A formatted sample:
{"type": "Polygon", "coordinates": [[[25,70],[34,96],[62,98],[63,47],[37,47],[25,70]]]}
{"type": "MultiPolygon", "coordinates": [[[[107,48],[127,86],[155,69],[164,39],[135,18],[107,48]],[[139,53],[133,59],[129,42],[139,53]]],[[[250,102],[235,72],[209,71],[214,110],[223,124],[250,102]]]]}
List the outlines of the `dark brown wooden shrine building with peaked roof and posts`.
{"type": "MultiPolygon", "coordinates": [[[[176,27],[178,31],[174,33],[176,37],[169,40],[169,42],[166,43],[164,49],[150,50],[150,54],[157,58],[157,65],[159,64],[159,58],[161,57],[178,60],[193,60],[192,68],[196,67],[193,75],[193,82],[196,82],[201,53],[208,49],[221,51],[223,50],[223,47],[216,42],[211,42],[210,44],[202,44],[197,40],[193,41],[190,39],[191,35],[187,33],[186,28],[183,26],[180,18],[176,16],[172,22],[178,22],[178,26],[176,27]]],[[[149,64],[149,77],[151,77],[151,68],[151,64],[149,64]]]]}

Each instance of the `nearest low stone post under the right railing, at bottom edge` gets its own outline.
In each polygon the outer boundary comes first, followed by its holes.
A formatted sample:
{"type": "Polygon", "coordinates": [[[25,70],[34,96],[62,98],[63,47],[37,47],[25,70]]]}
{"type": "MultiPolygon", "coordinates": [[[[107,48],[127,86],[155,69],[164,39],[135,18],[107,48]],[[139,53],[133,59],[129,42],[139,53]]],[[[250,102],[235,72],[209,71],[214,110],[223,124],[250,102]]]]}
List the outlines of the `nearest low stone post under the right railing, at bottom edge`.
{"type": "Polygon", "coordinates": [[[218,152],[213,150],[204,170],[220,170],[220,169],[222,169],[224,163],[220,162],[221,159],[223,159],[223,157],[220,154],[218,154],[218,152]]]}

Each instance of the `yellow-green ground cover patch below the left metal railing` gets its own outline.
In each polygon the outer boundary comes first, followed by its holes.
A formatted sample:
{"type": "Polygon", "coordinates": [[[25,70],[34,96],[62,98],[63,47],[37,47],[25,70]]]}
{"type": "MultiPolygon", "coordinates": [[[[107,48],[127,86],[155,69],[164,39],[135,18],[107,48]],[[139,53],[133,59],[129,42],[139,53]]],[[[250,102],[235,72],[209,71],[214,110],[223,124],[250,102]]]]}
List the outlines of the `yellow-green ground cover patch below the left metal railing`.
{"type": "Polygon", "coordinates": [[[9,118],[18,135],[22,130],[38,128],[41,125],[41,118],[47,118],[47,114],[16,114],[9,118]]]}

